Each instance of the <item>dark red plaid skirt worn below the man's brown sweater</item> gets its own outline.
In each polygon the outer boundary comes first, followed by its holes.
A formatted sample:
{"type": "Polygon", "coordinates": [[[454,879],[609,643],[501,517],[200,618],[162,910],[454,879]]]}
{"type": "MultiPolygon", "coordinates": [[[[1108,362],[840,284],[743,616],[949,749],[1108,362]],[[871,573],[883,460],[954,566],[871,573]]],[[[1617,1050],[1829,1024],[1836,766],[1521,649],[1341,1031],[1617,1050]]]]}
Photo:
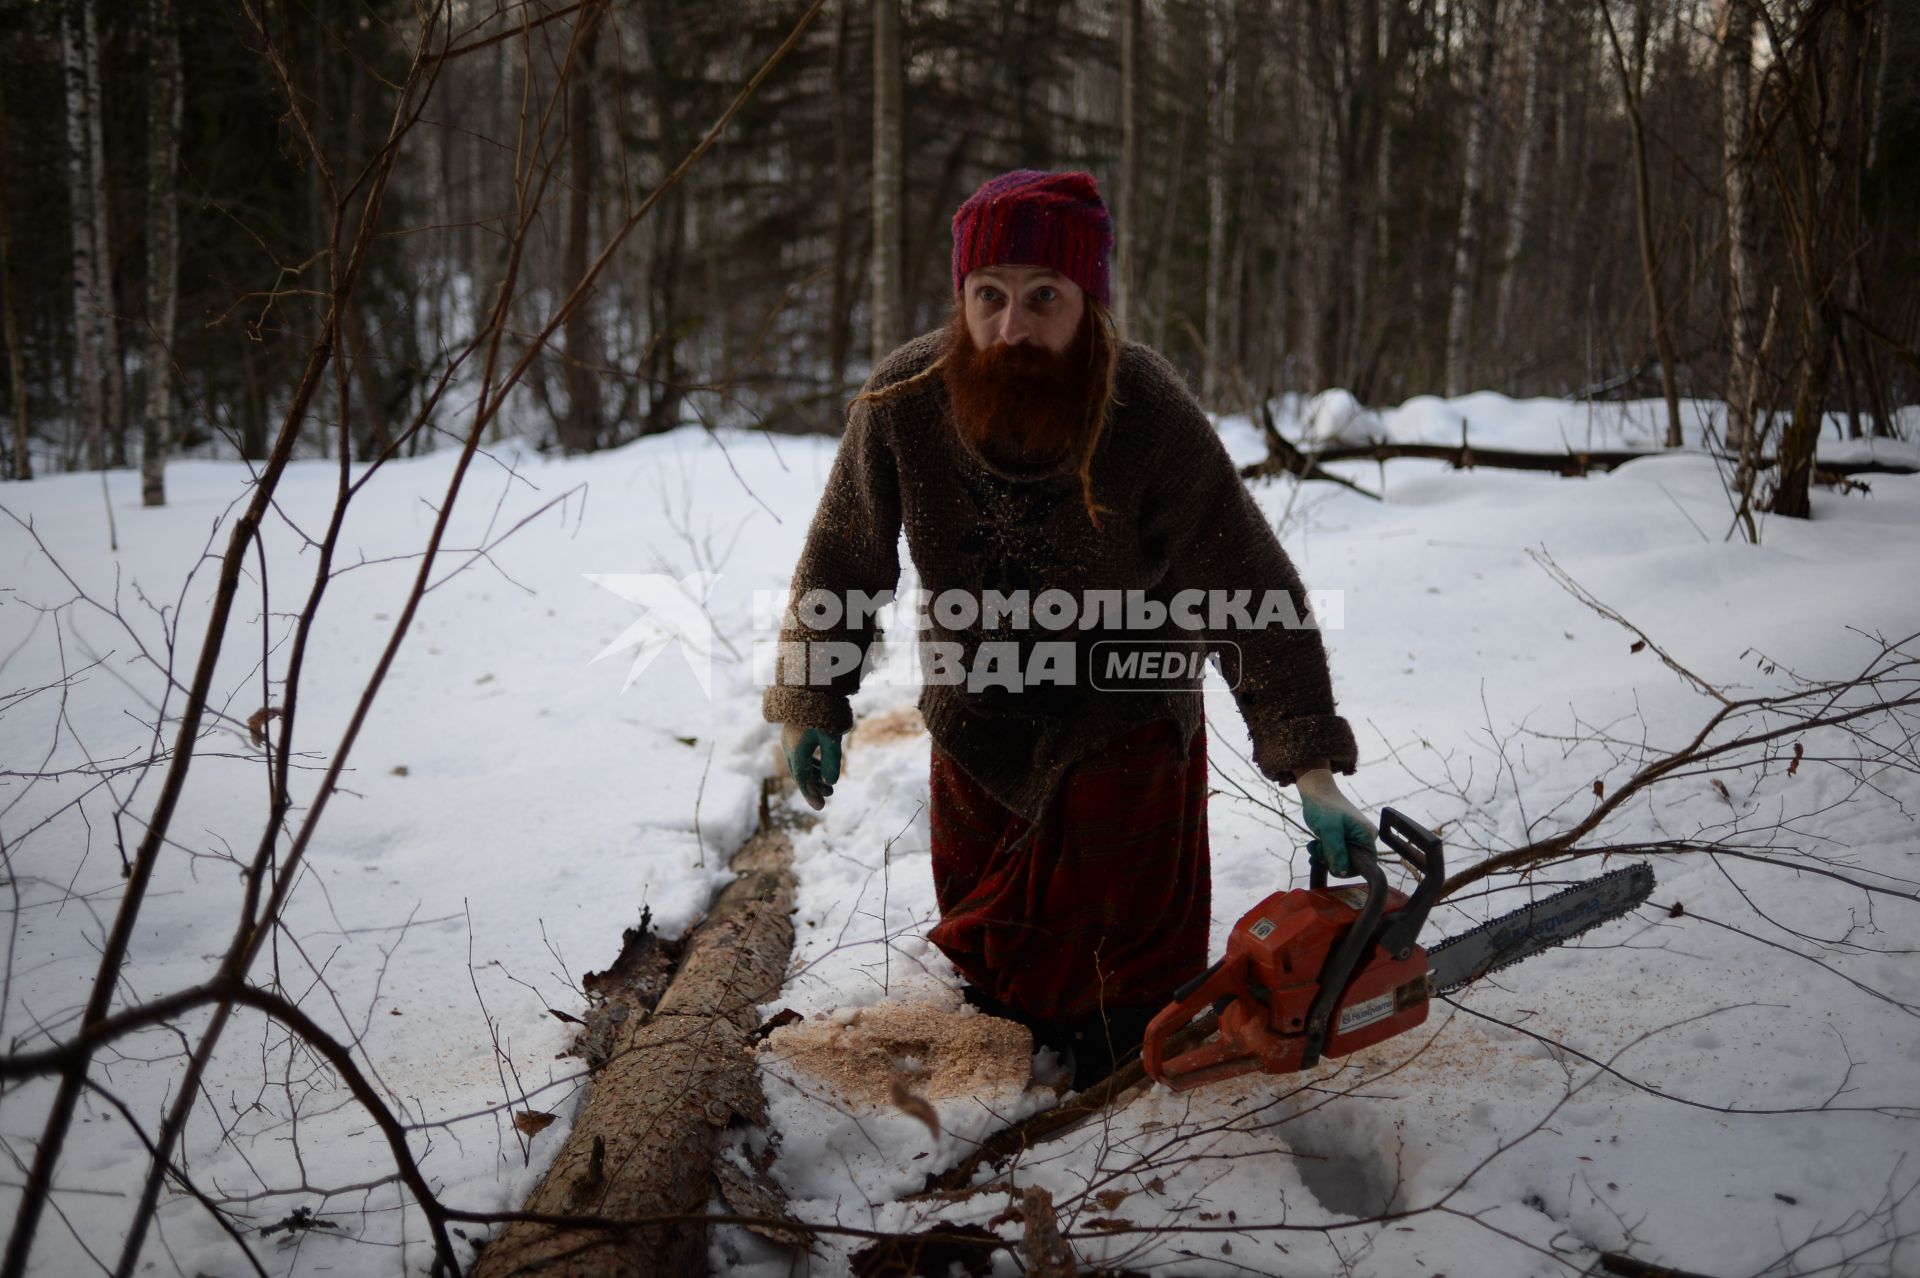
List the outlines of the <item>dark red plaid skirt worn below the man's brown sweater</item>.
{"type": "Polygon", "coordinates": [[[1206,723],[1156,720],[1068,769],[1039,823],[933,746],[933,944],[1046,1021],[1160,1006],[1206,967],[1206,723]]]}

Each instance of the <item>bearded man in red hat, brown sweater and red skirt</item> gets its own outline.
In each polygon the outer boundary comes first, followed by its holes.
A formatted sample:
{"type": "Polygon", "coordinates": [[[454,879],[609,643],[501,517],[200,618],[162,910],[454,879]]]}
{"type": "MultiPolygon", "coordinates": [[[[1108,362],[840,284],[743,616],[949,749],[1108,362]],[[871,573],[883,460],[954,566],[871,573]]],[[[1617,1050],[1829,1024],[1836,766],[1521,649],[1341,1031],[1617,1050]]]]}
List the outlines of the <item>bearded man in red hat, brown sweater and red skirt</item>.
{"type": "Polygon", "coordinates": [[[1092,177],[1000,175],[952,240],[952,322],[874,368],[793,572],[795,601],[841,606],[789,610],[762,712],[820,808],[862,666],[818,652],[868,651],[872,612],[851,604],[897,587],[904,528],[935,599],[929,938],[970,1002],[1068,1053],[1085,1088],[1208,950],[1204,664],[1129,649],[1219,658],[1256,766],[1300,789],[1315,860],[1344,875],[1373,831],[1332,781],[1356,745],[1319,631],[1246,624],[1275,595],[1308,618],[1292,562],[1173,367],[1114,330],[1092,177]],[[1062,597],[1091,604],[1068,641],[1062,597]],[[985,606],[1008,599],[1035,606],[985,606]]]}

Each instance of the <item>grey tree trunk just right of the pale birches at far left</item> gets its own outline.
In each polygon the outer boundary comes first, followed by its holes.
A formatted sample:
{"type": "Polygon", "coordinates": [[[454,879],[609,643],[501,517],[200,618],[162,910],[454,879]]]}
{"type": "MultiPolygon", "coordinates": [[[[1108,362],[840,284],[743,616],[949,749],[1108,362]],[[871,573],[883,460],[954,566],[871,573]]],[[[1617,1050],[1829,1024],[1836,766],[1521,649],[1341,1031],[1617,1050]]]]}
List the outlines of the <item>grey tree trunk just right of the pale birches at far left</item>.
{"type": "Polygon", "coordinates": [[[146,414],[140,441],[140,503],[167,505],[173,449],[173,319],[179,301],[180,33],[173,0],[148,0],[146,106],[146,414]]]}

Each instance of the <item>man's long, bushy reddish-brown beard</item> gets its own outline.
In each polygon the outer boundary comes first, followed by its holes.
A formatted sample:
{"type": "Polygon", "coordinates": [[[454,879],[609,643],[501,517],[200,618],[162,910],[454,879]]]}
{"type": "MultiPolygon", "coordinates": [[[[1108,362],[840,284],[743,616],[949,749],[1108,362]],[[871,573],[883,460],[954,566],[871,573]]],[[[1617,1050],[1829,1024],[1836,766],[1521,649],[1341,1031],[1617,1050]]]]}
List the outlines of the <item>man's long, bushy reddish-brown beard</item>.
{"type": "Polygon", "coordinates": [[[954,313],[941,378],[954,428],[996,464],[1046,468],[1087,439],[1096,393],[1089,372],[1092,311],[1064,351],[1043,345],[973,345],[966,315],[954,313]]]}

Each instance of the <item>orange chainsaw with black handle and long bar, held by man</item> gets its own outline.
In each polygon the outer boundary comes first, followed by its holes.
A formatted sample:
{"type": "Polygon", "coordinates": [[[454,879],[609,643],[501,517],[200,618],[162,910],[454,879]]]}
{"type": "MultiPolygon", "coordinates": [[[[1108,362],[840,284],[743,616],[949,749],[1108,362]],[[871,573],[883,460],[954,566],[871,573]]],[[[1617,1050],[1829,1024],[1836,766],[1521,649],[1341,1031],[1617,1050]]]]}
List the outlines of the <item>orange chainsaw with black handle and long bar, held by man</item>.
{"type": "Polygon", "coordinates": [[[1227,954],[1175,992],[1146,1027],[1146,1073],[1185,1092],[1252,1071],[1284,1075],[1371,1048],[1427,1021],[1427,1004],[1628,913],[1653,890],[1653,869],[1626,865],[1542,896],[1432,950],[1419,944],[1446,885],[1440,839],[1392,808],[1380,842],[1419,885],[1386,885],[1373,852],[1348,848],[1363,885],[1331,888],[1315,864],[1308,888],[1275,892],[1235,923],[1227,954]],[[1167,1040],[1208,1006],[1219,1030],[1167,1059],[1167,1040]]]}

